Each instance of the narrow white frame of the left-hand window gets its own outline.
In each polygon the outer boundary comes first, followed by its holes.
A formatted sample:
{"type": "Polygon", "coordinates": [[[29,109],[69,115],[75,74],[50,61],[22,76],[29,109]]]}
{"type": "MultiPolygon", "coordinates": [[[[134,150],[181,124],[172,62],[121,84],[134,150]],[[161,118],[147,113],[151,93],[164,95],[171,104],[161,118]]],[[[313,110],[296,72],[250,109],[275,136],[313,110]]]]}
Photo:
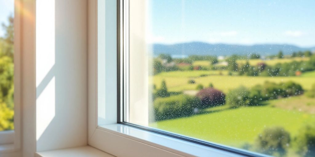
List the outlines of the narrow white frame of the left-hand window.
{"type": "Polygon", "coordinates": [[[0,132],[0,155],[1,153],[20,150],[21,137],[21,32],[20,32],[20,4],[21,0],[14,0],[14,130],[0,132]]]}

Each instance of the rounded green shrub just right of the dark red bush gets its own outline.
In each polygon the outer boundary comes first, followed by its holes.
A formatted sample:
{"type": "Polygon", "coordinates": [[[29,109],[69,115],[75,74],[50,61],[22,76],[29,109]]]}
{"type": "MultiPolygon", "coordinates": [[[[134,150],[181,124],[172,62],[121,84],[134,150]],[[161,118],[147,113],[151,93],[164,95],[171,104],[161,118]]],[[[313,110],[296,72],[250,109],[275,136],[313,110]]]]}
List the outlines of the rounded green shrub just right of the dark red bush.
{"type": "Polygon", "coordinates": [[[250,104],[249,90],[244,86],[232,89],[227,93],[226,99],[231,107],[248,106],[250,104]]]}

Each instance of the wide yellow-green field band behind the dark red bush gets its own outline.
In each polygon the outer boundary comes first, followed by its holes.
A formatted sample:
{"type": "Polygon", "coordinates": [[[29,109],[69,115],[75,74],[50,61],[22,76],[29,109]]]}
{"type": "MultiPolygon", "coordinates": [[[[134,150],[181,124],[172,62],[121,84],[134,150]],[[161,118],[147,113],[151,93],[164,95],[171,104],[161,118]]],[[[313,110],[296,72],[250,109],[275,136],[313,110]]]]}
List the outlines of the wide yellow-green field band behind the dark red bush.
{"type": "MultiPolygon", "coordinates": [[[[220,89],[223,92],[228,92],[229,89],[234,89],[243,85],[245,87],[252,87],[256,84],[263,84],[265,81],[270,82],[285,82],[294,81],[301,84],[303,89],[310,89],[311,84],[315,83],[313,77],[249,77],[249,76],[228,76],[227,71],[221,71],[222,75],[219,75],[220,71],[174,71],[163,72],[153,77],[153,83],[160,88],[161,82],[164,79],[169,91],[183,91],[194,90],[198,84],[203,84],[207,87],[209,83],[212,83],[216,89],[220,89]],[[199,77],[200,75],[208,74],[209,76],[199,77]],[[188,80],[195,80],[196,84],[188,84],[188,80]]],[[[315,74],[315,73],[313,73],[315,74]]]]}

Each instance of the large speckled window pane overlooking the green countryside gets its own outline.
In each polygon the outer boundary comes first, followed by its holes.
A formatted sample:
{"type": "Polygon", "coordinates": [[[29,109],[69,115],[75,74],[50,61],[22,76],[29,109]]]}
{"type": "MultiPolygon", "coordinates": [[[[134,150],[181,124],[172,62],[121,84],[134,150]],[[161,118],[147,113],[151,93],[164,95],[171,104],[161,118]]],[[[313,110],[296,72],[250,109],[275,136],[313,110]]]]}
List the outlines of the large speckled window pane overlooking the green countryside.
{"type": "Polygon", "coordinates": [[[315,1],[129,3],[126,122],[315,156],[315,1]]]}

